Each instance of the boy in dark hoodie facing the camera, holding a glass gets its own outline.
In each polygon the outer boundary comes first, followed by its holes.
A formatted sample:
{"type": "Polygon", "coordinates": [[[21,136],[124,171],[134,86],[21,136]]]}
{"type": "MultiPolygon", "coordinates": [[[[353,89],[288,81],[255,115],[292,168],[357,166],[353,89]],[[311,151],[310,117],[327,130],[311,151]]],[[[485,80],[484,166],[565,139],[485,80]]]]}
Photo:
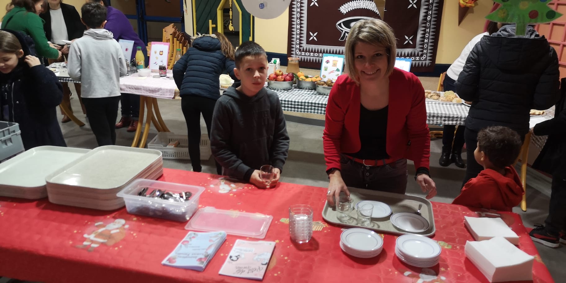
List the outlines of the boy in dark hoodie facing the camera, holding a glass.
{"type": "Polygon", "coordinates": [[[289,151],[289,135],[277,93],[263,87],[267,55],[255,42],[235,54],[234,75],[241,80],[218,98],[211,126],[211,149],[223,174],[265,188],[260,167],[275,167],[276,185],[289,151]]]}

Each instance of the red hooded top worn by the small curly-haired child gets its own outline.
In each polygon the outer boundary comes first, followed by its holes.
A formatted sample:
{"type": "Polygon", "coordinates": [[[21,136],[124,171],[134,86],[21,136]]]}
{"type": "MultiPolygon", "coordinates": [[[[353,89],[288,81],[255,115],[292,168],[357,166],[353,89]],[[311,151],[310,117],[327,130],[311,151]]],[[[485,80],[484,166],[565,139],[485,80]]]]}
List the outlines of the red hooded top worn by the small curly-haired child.
{"type": "Polygon", "coordinates": [[[513,207],[523,199],[523,186],[517,171],[508,166],[505,175],[498,171],[484,169],[478,177],[471,178],[453,204],[495,209],[496,211],[512,211],[513,207]]]}

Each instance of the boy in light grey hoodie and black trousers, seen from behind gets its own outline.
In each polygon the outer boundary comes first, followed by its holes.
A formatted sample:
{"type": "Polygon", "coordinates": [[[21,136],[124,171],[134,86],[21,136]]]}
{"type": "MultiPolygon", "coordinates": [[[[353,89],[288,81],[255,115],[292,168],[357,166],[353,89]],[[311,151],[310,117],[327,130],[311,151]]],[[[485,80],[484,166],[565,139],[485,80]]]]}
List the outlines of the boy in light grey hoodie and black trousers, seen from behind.
{"type": "Polygon", "coordinates": [[[67,70],[82,84],[84,107],[98,146],[112,145],[116,143],[120,76],[126,75],[128,68],[120,44],[104,29],[106,8],[86,3],[81,12],[88,29],[71,44],[67,70]]]}

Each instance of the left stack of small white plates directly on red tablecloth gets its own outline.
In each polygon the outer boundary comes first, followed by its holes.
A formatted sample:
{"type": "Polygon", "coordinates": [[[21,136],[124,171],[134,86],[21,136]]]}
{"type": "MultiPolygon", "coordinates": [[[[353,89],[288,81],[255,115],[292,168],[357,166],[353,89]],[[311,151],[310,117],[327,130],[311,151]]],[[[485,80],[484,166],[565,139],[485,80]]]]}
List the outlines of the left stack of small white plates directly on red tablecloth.
{"type": "Polygon", "coordinates": [[[373,258],[383,250],[383,239],[378,233],[363,228],[351,228],[340,235],[340,247],[356,258],[373,258]]]}

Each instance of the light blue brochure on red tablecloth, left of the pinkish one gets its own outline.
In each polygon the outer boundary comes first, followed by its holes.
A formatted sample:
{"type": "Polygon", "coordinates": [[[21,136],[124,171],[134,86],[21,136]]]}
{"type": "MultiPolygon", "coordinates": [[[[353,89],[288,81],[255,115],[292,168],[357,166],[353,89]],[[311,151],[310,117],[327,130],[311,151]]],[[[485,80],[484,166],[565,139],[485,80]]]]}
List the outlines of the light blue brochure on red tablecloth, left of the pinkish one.
{"type": "Polygon", "coordinates": [[[190,231],[161,264],[203,271],[226,239],[226,232],[190,231]]]}

